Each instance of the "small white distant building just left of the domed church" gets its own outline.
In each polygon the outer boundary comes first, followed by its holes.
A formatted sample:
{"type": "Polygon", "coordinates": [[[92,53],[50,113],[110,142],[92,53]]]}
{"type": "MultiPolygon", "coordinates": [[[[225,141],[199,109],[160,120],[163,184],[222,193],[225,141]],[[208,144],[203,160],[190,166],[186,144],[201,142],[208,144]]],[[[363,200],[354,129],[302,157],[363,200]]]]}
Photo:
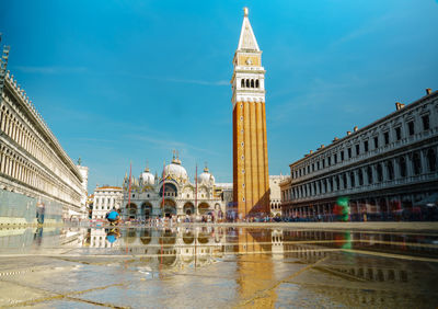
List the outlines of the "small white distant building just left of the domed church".
{"type": "Polygon", "coordinates": [[[111,209],[119,209],[122,205],[122,187],[101,186],[94,190],[93,219],[105,219],[106,213],[111,209]]]}

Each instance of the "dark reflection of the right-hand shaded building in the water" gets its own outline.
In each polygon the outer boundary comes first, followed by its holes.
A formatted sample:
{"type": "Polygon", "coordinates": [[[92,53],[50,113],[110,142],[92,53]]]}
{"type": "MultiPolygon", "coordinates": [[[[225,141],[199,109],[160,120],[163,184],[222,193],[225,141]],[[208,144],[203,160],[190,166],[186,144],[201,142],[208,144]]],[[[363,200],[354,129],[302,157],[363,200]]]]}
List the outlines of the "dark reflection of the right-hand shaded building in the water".
{"type": "Polygon", "coordinates": [[[289,263],[313,265],[291,283],[303,284],[345,307],[435,308],[436,299],[427,297],[437,286],[436,276],[427,274],[435,267],[426,271],[419,266],[422,262],[408,261],[411,254],[435,256],[438,252],[436,245],[422,247],[423,237],[285,230],[284,258],[289,263]],[[402,259],[384,259],[388,253],[400,253],[402,259]]]}

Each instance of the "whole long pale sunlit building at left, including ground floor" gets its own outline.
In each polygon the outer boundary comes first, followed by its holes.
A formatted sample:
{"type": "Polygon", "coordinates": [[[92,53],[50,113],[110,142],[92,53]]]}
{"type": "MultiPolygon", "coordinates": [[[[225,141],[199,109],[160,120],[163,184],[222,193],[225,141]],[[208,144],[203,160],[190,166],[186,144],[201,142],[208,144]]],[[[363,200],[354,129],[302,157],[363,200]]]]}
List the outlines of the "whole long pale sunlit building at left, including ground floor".
{"type": "Polygon", "coordinates": [[[87,175],[80,168],[8,72],[0,93],[0,221],[33,222],[36,207],[44,209],[45,222],[85,216],[87,175]]]}

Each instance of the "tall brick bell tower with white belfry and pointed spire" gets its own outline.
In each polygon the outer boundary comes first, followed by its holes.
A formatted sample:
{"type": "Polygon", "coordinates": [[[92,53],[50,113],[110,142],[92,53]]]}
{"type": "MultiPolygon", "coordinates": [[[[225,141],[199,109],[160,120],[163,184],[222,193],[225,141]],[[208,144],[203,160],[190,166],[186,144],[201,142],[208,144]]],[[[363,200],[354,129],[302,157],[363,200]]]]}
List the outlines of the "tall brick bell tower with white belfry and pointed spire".
{"type": "Polygon", "coordinates": [[[262,50],[243,9],[231,79],[233,104],[233,201],[239,216],[269,214],[265,69],[262,50]]]}

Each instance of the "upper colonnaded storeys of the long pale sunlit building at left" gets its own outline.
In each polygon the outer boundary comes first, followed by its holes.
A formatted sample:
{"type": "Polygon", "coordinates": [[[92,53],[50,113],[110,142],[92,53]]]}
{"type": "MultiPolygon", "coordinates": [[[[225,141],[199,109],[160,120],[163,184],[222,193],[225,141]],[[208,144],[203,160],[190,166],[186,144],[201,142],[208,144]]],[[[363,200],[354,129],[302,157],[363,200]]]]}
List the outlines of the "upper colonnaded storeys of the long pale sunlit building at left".
{"type": "Polygon", "coordinates": [[[0,101],[0,188],[81,206],[82,176],[9,75],[0,101]]]}

